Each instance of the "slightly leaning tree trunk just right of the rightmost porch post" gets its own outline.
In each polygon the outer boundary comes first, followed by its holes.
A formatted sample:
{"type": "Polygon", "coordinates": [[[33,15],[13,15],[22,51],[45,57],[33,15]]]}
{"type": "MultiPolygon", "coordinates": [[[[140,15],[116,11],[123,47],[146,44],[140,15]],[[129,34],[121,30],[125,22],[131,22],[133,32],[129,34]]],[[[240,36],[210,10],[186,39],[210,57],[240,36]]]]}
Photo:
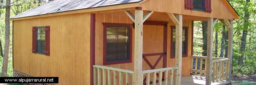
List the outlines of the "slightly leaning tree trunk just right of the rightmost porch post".
{"type": "MultiPolygon", "coordinates": [[[[249,2],[250,2],[250,0],[246,0],[245,7],[248,6],[249,2]]],[[[247,32],[248,32],[248,23],[249,23],[249,11],[248,11],[248,8],[245,8],[245,10],[244,10],[244,30],[243,30],[243,34],[242,34],[241,47],[240,47],[241,56],[238,59],[239,65],[243,65],[243,62],[244,62],[244,51],[245,51],[246,37],[247,37],[247,32]]]]}

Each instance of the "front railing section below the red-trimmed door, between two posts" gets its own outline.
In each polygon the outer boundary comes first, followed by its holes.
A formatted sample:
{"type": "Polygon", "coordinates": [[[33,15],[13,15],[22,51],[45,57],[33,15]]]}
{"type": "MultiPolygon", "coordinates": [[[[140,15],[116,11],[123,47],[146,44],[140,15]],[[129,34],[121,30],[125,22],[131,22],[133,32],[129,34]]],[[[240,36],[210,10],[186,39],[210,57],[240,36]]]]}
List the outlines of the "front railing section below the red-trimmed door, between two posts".
{"type": "Polygon", "coordinates": [[[153,70],[145,70],[143,71],[143,75],[146,75],[146,85],[150,85],[150,81],[152,81],[152,85],[162,85],[162,78],[164,77],[164,85],[167,85],[169,82],[169,85],[172,85],[173,82],[177,82],[177,75],[174,74],[177,73],[178,67],[169,67],[169,68],[159,68],[159,69],[153,69],[153,70]],[[158,74],[158,75],[157,75],[158,74]],[[152,76],[152,78],[150,77],[152,76]],[[164,75],[164,76],[163,76],[164,75]],[[173,76],[175,75],[175,81],[173,79],[173,76]],[[158,80],[157,80],[158,76],[158,80]],[[169,77],[169,80],[168,80],[169,77]]]}

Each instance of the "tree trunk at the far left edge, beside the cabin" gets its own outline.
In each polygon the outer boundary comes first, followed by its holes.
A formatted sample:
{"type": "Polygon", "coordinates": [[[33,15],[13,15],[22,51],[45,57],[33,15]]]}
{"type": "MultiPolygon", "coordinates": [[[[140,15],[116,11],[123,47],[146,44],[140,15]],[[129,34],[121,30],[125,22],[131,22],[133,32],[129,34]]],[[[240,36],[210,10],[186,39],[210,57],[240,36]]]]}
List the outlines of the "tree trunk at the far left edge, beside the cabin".
{"type": "Polygon", "coordinates": [[[7,76],[7,69],[8,69],[8,58],[9,58],[9,43],[10,43],[10,6],[11,0],[6,0],[6,32],[5,32],[5,47],[4,47],[4,57],[3,57],[3,67],[2,67],[2,77],[7,76]]]}

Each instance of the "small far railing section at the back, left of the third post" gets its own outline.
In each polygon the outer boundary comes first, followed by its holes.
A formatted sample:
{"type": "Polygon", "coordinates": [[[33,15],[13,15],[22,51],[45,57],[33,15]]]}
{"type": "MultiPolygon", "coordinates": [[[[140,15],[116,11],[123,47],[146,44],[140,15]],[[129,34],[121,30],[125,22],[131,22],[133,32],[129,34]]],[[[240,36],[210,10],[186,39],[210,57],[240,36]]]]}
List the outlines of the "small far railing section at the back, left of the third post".
{"type": "Polygon", "coordinates": [[[192,68],[190,70],[191,73],[194,72],[195,74],[201,74],[201,75],[206,74],[205,68],[206,68],[206,63],[207,63],[207,61],[206,61],[207,57],[205,57],[205,56],[191,56],[191,58],[192,58],[191,59],[192,60],[192,62],[191,62],[192,63],[192,68]],[[195,60],[195,63],[193,63],[194,60],[195,60]],[[200,60],[200,62],[198,62],[198,60],[200,60]],[[204,61],[204,63],[203,63],[203,61],[204,61]],[[200,64],[199,67],[198,67],[198,64],[200,64]],[[193,66],[195,66],[195,68],[193,68],[193,66]]]}

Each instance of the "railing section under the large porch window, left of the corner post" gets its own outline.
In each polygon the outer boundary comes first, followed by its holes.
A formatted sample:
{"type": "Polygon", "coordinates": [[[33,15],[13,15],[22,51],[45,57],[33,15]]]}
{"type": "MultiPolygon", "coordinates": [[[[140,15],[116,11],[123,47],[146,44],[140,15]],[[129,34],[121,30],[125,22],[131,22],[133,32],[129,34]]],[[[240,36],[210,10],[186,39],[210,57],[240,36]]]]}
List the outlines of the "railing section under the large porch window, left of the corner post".
{"type": "Polygon", "coordinates": [[[117,85],[117,81],[119,81],[119,85],[132,85],[131,83],[134,82],[134,71],[93,65],[93,85],[117,85]],[[117,76],[117,73],[119,76],[117,76]],[[125,81],[123,79],[123,74],[125,74],[125,81]],[[132,77],[132,80],[130,80],[130,76],[132,77]]]}

